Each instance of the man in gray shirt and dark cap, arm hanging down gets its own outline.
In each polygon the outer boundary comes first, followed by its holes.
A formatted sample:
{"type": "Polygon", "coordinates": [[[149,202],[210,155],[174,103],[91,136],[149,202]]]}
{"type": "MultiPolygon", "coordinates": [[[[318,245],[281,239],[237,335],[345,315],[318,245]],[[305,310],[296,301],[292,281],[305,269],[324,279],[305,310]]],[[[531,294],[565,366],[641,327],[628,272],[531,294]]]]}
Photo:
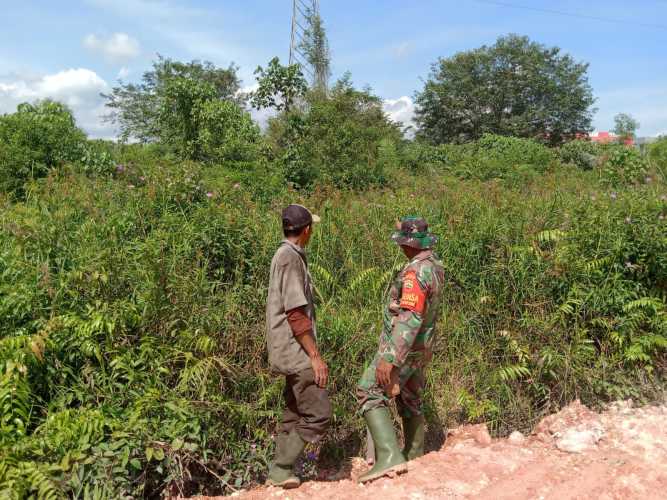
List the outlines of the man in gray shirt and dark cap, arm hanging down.
{"type": "Polygon", "coordinates": [[[317,348],[313,289],[305,247],[319,218],[301,205],[282,213],[285,239],[271,261],[266,339],[271,371],[285,376],[285,412],[267,484],[295,488],[294,463],[306,442],[318,441],[331,419],[327,364],[317,348]]]}

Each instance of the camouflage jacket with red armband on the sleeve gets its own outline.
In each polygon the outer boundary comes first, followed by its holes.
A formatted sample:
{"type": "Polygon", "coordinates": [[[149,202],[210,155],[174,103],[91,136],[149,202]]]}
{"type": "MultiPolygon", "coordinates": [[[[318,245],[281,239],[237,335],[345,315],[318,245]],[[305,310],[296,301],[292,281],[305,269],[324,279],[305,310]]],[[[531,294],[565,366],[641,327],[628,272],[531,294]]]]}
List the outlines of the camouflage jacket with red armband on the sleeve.
{"type": "Polygon", "coordinates": [[[398,273],[387,294],[379,354],[395,366],[430,358],[445,273],[432,250],[424,250],[398,273]]]}

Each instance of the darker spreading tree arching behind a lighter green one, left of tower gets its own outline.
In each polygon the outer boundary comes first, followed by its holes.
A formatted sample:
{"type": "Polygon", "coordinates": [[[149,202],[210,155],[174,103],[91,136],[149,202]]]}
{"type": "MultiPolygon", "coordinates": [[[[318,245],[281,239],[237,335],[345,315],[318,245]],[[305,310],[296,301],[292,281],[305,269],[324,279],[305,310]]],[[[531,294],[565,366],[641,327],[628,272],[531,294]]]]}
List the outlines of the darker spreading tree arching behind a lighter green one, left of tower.
{"type": "Polygon", "coordinates": [[[123,140],[155,142],[165,131],[160,128],[159,114],[166,98],[169,82],[177,79],[206,82],[214,89],[215,98],[240,103],[237,97],[240,80],[237,67],[218,68],[210,62],[179,62],[158,56],[153,68],[143,74],[141,83],[119,82],[110,94],[102,94],[110,109],[106,120],[120,128],[123,140]]]}

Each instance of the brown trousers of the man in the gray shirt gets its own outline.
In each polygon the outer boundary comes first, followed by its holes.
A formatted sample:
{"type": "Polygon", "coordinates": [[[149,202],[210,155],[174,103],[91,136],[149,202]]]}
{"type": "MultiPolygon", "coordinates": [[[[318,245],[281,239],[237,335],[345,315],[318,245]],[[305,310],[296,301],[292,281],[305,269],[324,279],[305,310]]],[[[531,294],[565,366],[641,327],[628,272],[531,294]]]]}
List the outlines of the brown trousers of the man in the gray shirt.
{"type": "Polygon", "coordinates": [[[281,433],[293,429],[304,441],[315,443],[326,433],[331,420],[329,393],[315,384],[313,370],[285,376],[285,411],[281,433]]]}

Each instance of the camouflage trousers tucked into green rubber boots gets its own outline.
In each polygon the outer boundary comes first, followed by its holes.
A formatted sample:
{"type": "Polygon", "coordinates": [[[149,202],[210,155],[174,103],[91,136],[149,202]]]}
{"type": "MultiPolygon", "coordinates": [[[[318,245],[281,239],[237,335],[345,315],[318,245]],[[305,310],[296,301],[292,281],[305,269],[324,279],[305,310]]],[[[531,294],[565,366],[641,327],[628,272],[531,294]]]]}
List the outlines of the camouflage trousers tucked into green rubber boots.
{"type": "MultiPolygon", "coordinates": [[[[376,354],[357,384],[357,402],[362,415],[369,410],[388,406],[391,399],[375,380],[375,369],[379,362],[380,354],[376,354]]],[[[422,414],[424,364],[423,353],[412,352],[405,364],[398,369],[401,393],[396,398],[396,406],[402,417],[410,418],[422,414]]]]}

